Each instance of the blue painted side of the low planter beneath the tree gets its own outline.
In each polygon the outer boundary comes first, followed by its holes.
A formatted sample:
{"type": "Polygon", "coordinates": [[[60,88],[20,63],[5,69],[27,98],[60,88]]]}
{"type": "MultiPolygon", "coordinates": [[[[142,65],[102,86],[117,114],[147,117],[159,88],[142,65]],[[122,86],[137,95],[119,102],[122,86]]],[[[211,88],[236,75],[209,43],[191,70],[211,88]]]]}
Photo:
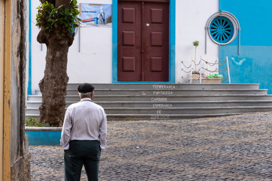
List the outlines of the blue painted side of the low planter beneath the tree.
{"type": "Polygon", "coordinates": [[[61,131],[26,131],[29,145],[54,145],[60,144],[61,131]]]}

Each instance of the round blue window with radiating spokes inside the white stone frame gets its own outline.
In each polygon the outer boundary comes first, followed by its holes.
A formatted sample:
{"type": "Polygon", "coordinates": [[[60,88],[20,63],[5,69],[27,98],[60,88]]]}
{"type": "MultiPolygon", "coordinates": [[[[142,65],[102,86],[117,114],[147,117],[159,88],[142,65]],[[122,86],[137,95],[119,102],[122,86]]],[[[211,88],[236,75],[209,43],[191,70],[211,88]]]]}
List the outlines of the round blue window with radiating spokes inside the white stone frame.
{"type": "Polygon", "coordinates": [[[211,21],[209,31],[213,40],[218,43],[227,43],[232,39],[234,28],[228,18],[218,16],[211,21]]]}

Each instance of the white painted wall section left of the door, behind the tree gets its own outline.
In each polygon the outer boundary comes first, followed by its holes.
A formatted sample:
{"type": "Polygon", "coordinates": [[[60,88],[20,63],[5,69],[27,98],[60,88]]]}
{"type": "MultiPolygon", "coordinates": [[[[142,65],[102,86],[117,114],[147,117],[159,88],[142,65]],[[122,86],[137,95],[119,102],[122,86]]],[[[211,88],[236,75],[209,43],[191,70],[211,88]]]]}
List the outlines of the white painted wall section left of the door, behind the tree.
{"type": "MultiPolygon", "coordinates": [[[[78,0],[78,3],[98,3],[97,0],[78,0]]],[[[112,4],[112,0],[99,0],[112,4]]],[[[40,2],[31,1],[31,21],[36,23],[40,2]]],[[[39,89],[44,76],[46,45],[37,42],[39,29],[31,23],[31,89],[39,89]]],[[[69,83],[112,83],[112,27],[80,27],[68,52],[67,74],[69,83]]]]}

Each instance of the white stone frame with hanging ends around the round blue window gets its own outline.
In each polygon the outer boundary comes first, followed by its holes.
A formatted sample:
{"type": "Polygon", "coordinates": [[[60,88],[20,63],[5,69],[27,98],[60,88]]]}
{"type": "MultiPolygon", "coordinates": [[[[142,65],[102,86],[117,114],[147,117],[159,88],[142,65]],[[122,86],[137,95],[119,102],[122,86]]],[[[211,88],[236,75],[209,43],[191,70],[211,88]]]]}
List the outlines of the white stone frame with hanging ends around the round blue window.
{"type": "Polygon", "coordinates": [[[218,44],[218,45],[227,45],[229,43],[232,43],[233,40],[235,40],[235,38],[237,37],[237,34],[238,34],[238,38],[239,38],[239,40],[238,40],[238,55],[240,55],[240,30],[241,30],[240,24],[239,24],[237,18],[233,14],[231,14],[231,13],[229,13],[227,11],[218,11],[218,12],[212,14],[209,17],[209,19],[208,19],[208,21],[206,23],[206,27],[205,27],[205,54],[207,54],[207,32],[208,32],[209,37],[211,38],[211,40],[214,43],[218,44]],[[233,32],[232,38],[226,43],[218,43],[217,41],[215,41],[212,38],[212,36],[210,34],[210,24],[211,24],[212,20],[215,17],[218,17],[218,16],[223,16],[223,17],[228,18],[232,22],[232,25],[233,25],[234,32],[233,32]]]}

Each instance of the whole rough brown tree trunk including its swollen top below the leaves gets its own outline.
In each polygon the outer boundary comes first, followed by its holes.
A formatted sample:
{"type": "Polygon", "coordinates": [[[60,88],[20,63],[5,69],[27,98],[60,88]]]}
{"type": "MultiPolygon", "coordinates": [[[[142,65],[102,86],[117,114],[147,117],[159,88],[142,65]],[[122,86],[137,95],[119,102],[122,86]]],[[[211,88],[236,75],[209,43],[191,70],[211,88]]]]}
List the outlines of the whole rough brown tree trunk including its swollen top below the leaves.
{"type": "MultiPolygon", "coordinates": [[[[64,0],[60,1],[64,2],[64,0]]],[[[56,7],[59,6],[60,1],[56,0],[56,7]]],[[[65,0],[65,2],[70,3],[70,0],[65,0]]],[[[62,126],[65,115],[66,88],[69,80],[66,73],[67,55],[74,40],[74,33],[72,34],[61,27],[57,27],[51,32],[45,28],[45,22],[41,21],[41,30],[37,41],[46,44],[47,52],[44,77],[39,83],[42,94],[42,103],[39,107],[40,123],[62,126]]]]}

